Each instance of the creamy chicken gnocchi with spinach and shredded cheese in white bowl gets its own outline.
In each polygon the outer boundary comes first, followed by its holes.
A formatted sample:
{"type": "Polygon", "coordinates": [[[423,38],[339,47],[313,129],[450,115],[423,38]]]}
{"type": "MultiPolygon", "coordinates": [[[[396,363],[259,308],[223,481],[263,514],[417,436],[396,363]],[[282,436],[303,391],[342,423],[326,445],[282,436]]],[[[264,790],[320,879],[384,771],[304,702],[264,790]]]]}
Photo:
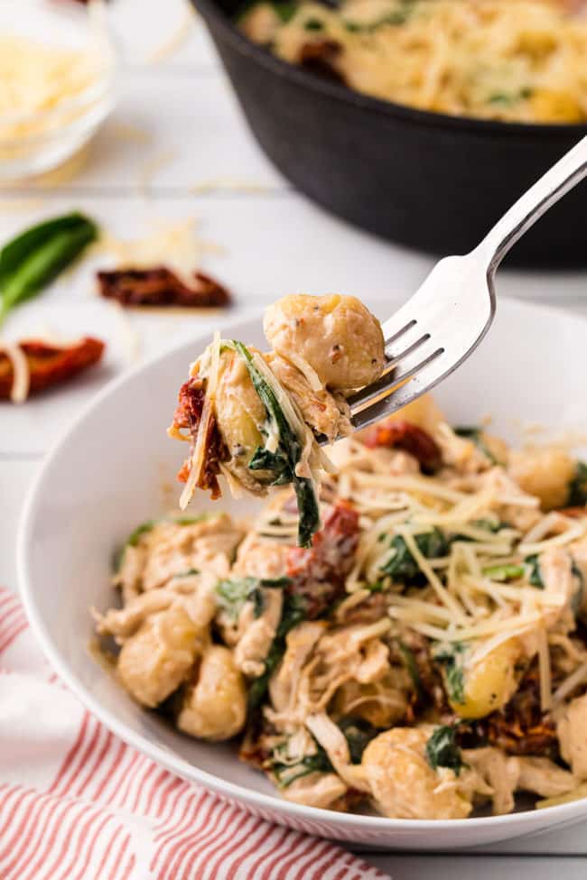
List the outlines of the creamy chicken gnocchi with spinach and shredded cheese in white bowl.
{"type": "Polygon", "coordinates": [[[254,523],[131,535],[122,607],[96,616],[121,685],[187,735],[238,736],[298,803],[461,819],[585,795],[587,466],[453,429],[428,397],[332,456],[309,548],[291,487],[254,523]]]}

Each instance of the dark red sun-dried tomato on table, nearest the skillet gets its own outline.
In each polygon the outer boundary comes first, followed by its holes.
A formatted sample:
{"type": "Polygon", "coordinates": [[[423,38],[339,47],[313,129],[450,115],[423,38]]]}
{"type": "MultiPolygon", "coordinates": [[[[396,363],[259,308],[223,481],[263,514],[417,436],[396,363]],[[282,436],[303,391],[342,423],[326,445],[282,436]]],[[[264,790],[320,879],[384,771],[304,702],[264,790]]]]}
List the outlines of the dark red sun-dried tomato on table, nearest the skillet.
{"type": "Polygon", "coordinates": [[[165,266],[98,272],[98,290],[123,306],[227,306],[230,293],[210,275],[196,272],[190,284],[165,266]]]}

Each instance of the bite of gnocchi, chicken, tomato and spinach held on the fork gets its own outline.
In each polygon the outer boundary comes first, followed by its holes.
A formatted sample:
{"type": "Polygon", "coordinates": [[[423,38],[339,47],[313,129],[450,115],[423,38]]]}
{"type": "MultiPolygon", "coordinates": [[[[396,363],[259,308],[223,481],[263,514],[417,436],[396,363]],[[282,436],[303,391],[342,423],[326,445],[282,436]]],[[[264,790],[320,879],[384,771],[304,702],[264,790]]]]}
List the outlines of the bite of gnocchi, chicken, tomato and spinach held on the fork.
{"type": "Polygon", "coordinates": [[[320,527],[318,482],[332,470],[317,439],[351,431],[346,395],[380,375],[383,334],[362,302],[340,295],[286,296],[266,310],[264,329],[266,354],[217,335],[191,365],[169,429],[190,442],[180,503],[196,488],[218,498],[220,474],[237,496],[291,483],[308,546],[320,527]]]}

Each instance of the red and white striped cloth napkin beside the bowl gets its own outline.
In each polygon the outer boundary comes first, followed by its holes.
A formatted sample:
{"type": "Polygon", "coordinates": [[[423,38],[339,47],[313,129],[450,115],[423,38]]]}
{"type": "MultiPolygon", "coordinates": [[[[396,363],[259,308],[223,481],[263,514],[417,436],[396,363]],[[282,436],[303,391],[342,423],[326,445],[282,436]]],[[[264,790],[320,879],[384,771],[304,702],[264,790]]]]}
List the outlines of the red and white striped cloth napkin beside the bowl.
{"type": "Polygon", "coordinates": [[[117,739],[43,660],[0,589],[1,880],[386,880],[117,739]]]}

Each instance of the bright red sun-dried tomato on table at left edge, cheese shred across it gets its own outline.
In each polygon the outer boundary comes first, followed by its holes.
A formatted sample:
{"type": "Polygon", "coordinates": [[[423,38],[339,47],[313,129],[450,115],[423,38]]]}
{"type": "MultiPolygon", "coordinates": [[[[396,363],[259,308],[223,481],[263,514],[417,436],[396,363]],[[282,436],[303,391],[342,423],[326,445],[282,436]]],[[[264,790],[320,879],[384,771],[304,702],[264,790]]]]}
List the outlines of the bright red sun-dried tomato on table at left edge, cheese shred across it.
{"type": "MultiPolygon", "coordinates": [[[[24,339],[19,347],[26,357],[30,394],[67,382],[82,370],[97,364],[104,352],[104,343],[93,337],[79,339],[69,346],[58,346],[42,339],[24,339]]],[[[0,400],[9,400],[14,382],[12,360],[0,351],[0,400]]]]}

